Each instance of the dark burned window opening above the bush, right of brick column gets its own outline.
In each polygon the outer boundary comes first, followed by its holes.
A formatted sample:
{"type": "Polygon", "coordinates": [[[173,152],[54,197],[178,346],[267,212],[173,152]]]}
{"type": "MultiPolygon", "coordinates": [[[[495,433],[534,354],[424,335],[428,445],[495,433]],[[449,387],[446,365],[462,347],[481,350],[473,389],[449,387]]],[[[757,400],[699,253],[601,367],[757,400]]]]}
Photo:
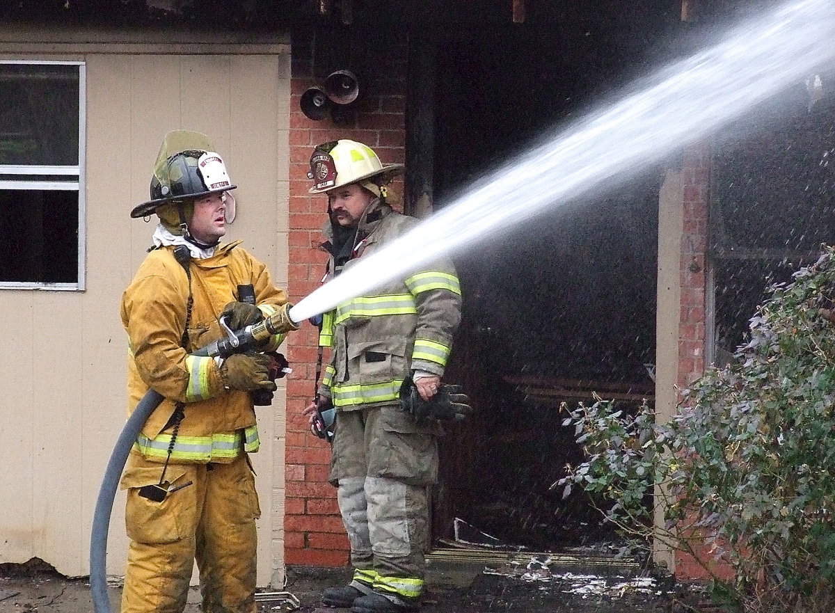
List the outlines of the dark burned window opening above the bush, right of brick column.
{"type": "Polygon", "coordinates": [[[809,75],[711,145],[708,358],[748,340],[772,283],[835,244],[835,72],[809,75]]]}

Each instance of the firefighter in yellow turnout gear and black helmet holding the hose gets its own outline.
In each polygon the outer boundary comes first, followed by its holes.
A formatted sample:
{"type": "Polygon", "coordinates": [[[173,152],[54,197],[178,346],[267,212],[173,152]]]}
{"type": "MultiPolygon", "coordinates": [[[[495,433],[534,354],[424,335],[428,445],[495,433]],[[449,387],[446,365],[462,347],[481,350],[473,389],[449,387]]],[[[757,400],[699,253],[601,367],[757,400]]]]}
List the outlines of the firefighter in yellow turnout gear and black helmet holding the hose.
{"type": "MultiPolygon", "coordinates": [[[[234,189],[202,134],[166,136],[151,198],[154,247],[124,291],[132,411],[149,388],[164,396],[134,444],[122,477],[130,539],[123,613],[185,607],[194,560],[205,613],[255,613],[260,514],[247,453],[258,449],[251,392],[276,389],[262,353],[226,360],[191,352],[286,308],[266,266],[235,241],[220,245],[234,189]],[[251,284],[256,304],[237,300],[251,284]]],[[[281,335],[266,349],[278,347],[281,335]]]]}

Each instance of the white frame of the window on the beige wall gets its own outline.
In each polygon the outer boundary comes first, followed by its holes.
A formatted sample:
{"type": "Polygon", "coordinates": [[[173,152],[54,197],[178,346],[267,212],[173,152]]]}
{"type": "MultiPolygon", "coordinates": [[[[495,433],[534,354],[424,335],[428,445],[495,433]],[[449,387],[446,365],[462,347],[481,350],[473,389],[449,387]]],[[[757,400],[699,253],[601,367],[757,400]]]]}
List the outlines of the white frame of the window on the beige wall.
{"type": "Polygon", "coordinates": [[[0,290],[49,290],[84,291],[86,289],[86,156],[87,133],[87,64],[83,60],[0,59],[0,64],[29,64],[36,66],[78,66],[78,166],[63,165],[6,165],[0,164],[0,190],[65,190],[78,193],[78,281],[75,283],[48,283],[42,281],[3,281],[0,290]],[[9,176],[66,176],[68,180],[11,180],[9,176]],[[72,180],[72,179],[75,180],[72,180]]]}

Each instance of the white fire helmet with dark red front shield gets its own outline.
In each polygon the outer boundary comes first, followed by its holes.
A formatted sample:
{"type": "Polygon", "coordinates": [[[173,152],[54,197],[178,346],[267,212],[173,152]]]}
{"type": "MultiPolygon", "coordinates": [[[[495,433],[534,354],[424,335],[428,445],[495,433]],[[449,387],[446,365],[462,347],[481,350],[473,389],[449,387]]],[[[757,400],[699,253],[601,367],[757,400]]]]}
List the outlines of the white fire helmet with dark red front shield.
{"type": "Polygon", "coordinates": [[[313,149],[311,170],[307,178],[313,180],[309,193],[321,194],[349,183],[370,180],[386,185],[403,171],[402,164],[383,165],[371,147],[356,140],[334,140],[313,149]]]}

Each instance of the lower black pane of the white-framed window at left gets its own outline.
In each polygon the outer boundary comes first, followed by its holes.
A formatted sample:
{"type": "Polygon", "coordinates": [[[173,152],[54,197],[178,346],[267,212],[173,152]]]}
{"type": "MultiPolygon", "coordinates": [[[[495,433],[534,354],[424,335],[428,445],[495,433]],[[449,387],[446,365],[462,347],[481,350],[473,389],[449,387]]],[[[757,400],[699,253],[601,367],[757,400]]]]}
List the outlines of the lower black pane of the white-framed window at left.
{"type": "Polygon", "coordinates": [[[78,282],[78,192],[0,190],[0,282],[78,282]]]}

